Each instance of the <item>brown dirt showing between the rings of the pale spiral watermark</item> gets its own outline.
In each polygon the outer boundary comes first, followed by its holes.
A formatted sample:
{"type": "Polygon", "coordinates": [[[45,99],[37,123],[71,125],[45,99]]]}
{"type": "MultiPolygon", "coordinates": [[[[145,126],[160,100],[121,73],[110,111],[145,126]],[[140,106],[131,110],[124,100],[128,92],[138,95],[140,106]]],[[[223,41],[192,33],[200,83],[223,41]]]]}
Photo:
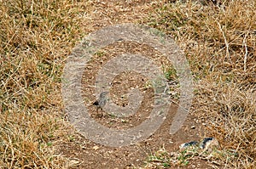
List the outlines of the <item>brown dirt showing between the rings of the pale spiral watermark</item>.
{"type": "MultiPolygon", "coordinates": [[[[150,84],[148,77],[142,76],[135,71],[127,71],[119,74],[119,76],[115,76],[112,82],[110,98],[113,100],[113,103],[121,107],[125,107],[128,104],[127,93],[129,92],[129,89],[137,88],[141,93],[143,93],[144,99],[135,115],[115,118],[114,115],[111,115],[111,112],[96,112],[96,107],[92,106],[92,103],[96,100],[96,89],[94,87],[96,83],[96,74],[101,69],[101,66],[105,65],[108,60],[121,54],[141,54],[143,56],[147,56],[147,58],[151,60],[154,60],[155,65],[159,66],[164,66],[164,63],[166,63],[165,65],[171,65],[171,63],[169,63],[162,55],[155,52],[153,48],[134,42],[117,43],[108,48],[104,48],[88,63],[89,66],[84,70],[82,83],[84,104],[88,107],[90,116],[95,118],[96,121],[104,126],[127,129],[129,127],[135,127],[144,121],[153,109],[154,89],[150,84]],[[102,114],[104,114],[104,118],[101,118],[102,114]]],[[[174,90],[178,91],[178,88],[172,86],[172,91],[174,90]]],[[[171,95],[171,97],[175,96],[171,95]]]]}

